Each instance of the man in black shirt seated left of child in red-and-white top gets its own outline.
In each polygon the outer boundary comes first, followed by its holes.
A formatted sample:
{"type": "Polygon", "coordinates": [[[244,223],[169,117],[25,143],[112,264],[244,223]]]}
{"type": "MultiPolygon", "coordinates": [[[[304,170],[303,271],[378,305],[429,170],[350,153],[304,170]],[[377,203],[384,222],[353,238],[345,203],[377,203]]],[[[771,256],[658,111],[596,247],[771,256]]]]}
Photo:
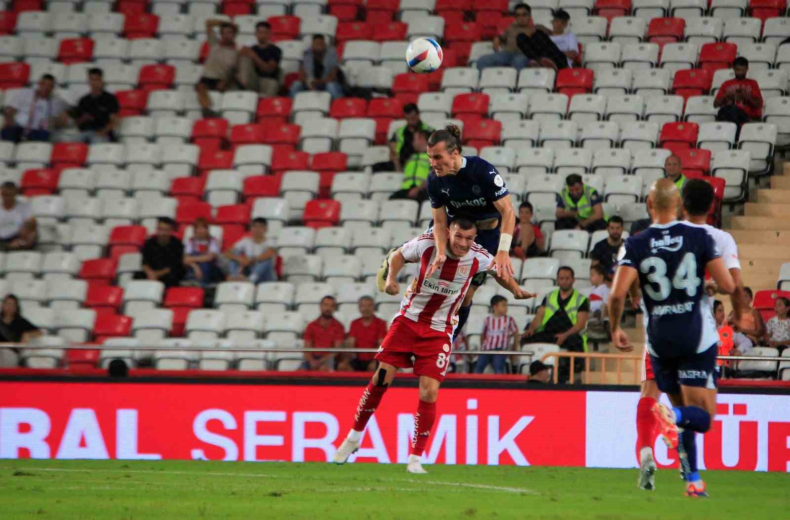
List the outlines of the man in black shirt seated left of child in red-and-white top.
{"type": "Polygon", "coordinates": [[[135,279],[159,280],[167,287],[181,283],[186,275],[184,244],[174,234],[175,220],[160,217],[156,234],[143,244],[143,270],[135,273],[135,279]]]}

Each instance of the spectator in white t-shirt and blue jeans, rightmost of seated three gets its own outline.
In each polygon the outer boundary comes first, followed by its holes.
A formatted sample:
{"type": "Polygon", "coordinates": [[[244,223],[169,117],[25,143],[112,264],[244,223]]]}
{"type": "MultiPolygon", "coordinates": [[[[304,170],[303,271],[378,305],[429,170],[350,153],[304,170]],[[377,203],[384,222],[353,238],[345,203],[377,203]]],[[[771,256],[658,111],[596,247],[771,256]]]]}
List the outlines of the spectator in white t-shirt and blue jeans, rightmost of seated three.
{"type": "Polygon", "coordinates": [[[266,219],[253,219],[250,236],[236,242],[225,251],[228,260],[228,279],[253,283],[276,282],[274,271],[277,250],[274,242],[266,238],[269,223],[266,219]]]}

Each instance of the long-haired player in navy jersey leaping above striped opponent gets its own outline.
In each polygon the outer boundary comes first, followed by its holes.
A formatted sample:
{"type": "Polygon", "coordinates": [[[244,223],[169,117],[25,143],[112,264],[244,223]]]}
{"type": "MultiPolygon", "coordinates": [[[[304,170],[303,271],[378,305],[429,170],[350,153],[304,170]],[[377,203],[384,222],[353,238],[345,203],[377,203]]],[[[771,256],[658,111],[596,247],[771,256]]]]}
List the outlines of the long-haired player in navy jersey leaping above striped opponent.
{"type": "MultiPolygon", "coordinates": [[[[494,256],[492,268],[498,277],[510,279],[513,276],[510,242],[513,241],[516,214],[502,175],[480,157],[461,155],[461,129],[457,125],[447,125],[431,133],[427,152],[432,170],[428,175],[427,190],[433,210],[436,245],[436,256],[428,267],[427,277],[430,278],[434,271],[441,271],[447,259],[449,223],[463,211],[475,219],[475,241],[494,256]]],[[[387,263],[379,272],[379,290],[382,290],[382,280],[386,279],[386,266],[387,263]]],[[[458,309],[456,334],[464,327],[475,291],[485,279],[486,273],[481,272],[472,280],[472,286],[458,309]]]]}

